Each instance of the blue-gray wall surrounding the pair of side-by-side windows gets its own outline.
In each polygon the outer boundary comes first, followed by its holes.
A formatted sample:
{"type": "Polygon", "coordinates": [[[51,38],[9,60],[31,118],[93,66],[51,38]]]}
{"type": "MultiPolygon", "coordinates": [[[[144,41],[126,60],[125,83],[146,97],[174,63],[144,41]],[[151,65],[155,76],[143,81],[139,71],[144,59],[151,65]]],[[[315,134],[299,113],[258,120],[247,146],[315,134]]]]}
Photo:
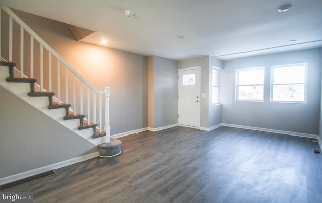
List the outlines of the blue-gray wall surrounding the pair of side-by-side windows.
{"type": "Polygon", "coordinates": [[[225,61],[220,74],[222,122],[227,124],[319,134],[321,49],[270,54],[225,61]],[[308,63],[307,104],[270,102],[270,66],[308,63]],[[235,101],[235,70],[265,67],[264,102],[235,101]]]}

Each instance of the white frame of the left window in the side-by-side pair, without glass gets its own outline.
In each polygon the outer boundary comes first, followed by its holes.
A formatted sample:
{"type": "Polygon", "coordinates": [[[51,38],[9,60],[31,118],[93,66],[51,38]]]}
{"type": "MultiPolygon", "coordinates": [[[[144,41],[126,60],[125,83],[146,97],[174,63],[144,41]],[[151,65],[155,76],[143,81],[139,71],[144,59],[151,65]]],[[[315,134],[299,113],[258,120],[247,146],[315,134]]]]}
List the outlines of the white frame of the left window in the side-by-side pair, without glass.
{"type": "Polygon", "coordinates": [[[251,67],[251,68],[245,68],[245,69],[236,69],[236,101],[246,101],[246,102],[264,102],[264,90],[265,90],[265,67],[251,67]],[[261,84],[249,84],[249,85],[239,85],[239,73],[241,71],[251,71],[251,70],[263,70],[263,83],[261,84]],[[239,87],[240,86],[263,86],[263,99],[239,99],[239,87]]]}

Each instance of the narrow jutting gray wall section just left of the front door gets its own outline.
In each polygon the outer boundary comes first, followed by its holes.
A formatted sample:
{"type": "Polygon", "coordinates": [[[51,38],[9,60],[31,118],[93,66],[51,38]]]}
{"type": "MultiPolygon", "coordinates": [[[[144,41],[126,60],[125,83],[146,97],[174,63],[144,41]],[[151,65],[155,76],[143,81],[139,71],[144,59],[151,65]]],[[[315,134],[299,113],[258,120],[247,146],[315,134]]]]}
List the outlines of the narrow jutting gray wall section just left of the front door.
{"type": "Polygon", "coordinates": [[[148,57],[149,127],[178,123],[178,61],[148,57]]]}

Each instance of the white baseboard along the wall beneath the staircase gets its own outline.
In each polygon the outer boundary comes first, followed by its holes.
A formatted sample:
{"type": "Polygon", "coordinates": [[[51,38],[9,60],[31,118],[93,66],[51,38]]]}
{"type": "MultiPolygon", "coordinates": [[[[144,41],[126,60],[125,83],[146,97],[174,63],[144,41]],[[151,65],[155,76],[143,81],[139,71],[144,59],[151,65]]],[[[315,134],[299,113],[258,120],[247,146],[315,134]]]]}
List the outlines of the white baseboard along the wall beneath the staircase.
{"type": "Polygon", "coordinates": [[[23,178],[27,178],[27,177],[30,177],[30,176],[33,176],[33,175],[37,175],[39,173],[43,173],[43,172],[46,172],[46,171],[50,171],[50,170],[54,170],[54,169],[57,169],[57,168],[62,168],[62,167],[65,167],[65,166],[69,166],[71,164],[75,164],[75,163],[78,163],[78,162],[86,161],[88,159],[92,159],[92,158],[95,158],[95,157],[98,157],[98,156],[99,156],[99,152],[94,152],[94,153],[87,154],[87,155],[84,155],[84,156],[81,156],[81,157],[76,157],[76,158],[69,159],[69,160],[66,160],[66,161],[62,161],[62,162],[58,162],[58,163],[51,164],[51,165],[48,165],[48,166],[44,166],[44,167],[41,167],[41,168],[26,171],[26,172],[23,172],[23,173],[18,173],[18,174],[11,175],[11,176],[8,176],[8,177],[0,178],[0,185],[10,183],[10,182],[13,182],[13,181],[16,181],[16,180],[20,180],[20,179],[23,179],[23,178]]]}

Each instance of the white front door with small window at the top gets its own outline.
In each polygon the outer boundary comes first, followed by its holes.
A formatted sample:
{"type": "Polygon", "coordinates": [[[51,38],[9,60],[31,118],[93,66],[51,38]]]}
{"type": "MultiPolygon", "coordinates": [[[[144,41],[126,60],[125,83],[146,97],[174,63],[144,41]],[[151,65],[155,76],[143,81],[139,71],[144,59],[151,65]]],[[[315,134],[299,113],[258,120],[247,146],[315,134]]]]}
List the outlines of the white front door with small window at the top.
{"type": "Polygon", "coordinates": [[[199,128],[200,67],[178,72],[178,124],[199,128]]]}

